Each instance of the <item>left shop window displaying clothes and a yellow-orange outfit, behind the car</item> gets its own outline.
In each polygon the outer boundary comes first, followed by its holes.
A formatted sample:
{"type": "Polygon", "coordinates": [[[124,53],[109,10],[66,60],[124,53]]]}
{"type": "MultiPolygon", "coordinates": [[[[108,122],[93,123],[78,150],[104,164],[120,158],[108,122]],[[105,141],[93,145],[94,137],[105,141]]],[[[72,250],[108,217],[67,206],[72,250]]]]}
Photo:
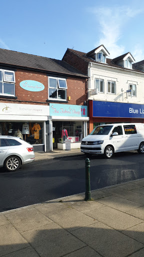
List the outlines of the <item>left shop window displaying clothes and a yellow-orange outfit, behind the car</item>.
{"type": "MultiPolygon", "coordinates": [[[[0,122],[0,135],[18,137],[31,145],[41,145],[44,142],[43,122],[0,122]]],[[[12,146],[11,139],[7,139],[7,142],[12,146]]]]}

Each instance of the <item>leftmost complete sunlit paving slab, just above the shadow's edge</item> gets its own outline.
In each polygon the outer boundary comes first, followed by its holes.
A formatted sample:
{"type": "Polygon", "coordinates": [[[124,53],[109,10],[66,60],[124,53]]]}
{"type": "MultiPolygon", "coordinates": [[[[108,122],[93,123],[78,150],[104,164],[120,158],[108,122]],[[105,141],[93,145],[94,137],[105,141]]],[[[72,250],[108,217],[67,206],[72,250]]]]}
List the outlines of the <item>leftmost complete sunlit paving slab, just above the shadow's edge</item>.
{"type": "Polygon", "coordinates": [[[19,232],[43,226],[52,222],[35,208],[5,214],[5,217],[19,232]]]}

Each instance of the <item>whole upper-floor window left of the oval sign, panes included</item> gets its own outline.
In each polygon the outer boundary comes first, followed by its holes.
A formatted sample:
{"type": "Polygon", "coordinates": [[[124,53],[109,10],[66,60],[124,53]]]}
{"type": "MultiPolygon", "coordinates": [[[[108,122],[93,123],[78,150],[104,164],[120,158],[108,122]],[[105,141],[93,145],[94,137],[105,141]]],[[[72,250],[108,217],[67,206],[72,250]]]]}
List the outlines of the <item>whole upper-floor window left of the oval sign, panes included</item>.
{"type": "Polygon", "coordinates": [[[0,94],[15,95],[14,71],[0,70],[0,94]]]}

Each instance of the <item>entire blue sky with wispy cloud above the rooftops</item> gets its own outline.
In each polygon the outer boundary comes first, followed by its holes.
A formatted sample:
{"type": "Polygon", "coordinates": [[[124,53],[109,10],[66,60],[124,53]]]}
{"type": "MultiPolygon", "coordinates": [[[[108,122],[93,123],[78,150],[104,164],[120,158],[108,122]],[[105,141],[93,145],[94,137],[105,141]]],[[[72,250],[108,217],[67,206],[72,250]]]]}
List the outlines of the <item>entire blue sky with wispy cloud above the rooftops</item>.
{"type": "Polygon", "coordinates": [[[144,59],[143,0],[7,0],[0,3],[0,48],[59,59],[67,48],[103,44],[110,58],[144,59]],[[118,4],[117,4],[118,3],[118,4]]]}

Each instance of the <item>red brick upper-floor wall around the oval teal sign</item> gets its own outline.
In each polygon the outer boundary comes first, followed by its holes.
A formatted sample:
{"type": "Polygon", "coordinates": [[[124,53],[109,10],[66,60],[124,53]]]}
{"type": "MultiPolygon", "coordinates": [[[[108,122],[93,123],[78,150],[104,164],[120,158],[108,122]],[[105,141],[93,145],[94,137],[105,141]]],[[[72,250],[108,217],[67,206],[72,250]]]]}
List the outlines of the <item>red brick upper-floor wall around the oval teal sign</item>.
{"type": "MultiPolygon", "coordinates": [[[[56,76],[55,76],[56,77],[56,76]]],[[[58,77],[58,75],[57,75],[58,77]]],[[[66,78],[67,82],[67,99],[70,96],[70,101],[67,104],[76,104],[83,105],[84,101],[86,101],[86,88],[87,82],[86,79],[83,78],[74,78],[74,77],[66,77],[63,75],[63,78],[66,78]]],[[[22,69],[17,69],[15,71],[15,96],[14,99],[0,99],[0,102],[14,102],[14,103],[27,103],[27,104],[42,104],[49,105],[46,100],[48,99],[48,77],[45,73],[38,73],[32,71],[25,71],[22,69]],[[44,89],[38,92],[27,91],[20,87],[19,83],[23,80],[35,80],[44,85],[44,89]]],[[[66,100],[67,100],[66,99],[66,100]]],[[[60,103],[56,102],[55,103],[60,103]]],[[[65,103],[66,104],[66,103],[65,103]]]]}

